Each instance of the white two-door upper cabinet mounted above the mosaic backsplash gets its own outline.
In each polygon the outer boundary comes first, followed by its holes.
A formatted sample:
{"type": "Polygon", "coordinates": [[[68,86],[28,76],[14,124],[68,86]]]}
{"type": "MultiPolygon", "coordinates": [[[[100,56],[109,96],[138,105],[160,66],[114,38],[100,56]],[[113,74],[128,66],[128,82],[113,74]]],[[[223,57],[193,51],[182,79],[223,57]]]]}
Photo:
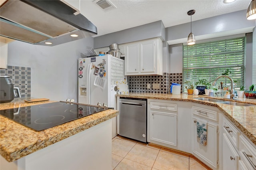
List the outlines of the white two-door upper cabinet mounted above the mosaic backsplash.
{"type": "Polygon", "coordinates": [[[162,75],[162,40],[126,44],[125,75],[162,75]]]}

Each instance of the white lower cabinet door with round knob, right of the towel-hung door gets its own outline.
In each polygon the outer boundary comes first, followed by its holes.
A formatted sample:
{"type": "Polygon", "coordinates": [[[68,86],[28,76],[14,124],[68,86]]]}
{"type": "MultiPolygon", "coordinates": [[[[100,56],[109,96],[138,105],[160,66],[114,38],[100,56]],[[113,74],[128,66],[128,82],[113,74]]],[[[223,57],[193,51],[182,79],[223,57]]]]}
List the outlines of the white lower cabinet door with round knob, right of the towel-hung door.
{"type": "Polygon", "coordinates": [[[223,169],[224,170],[236,170],[238,167],[239,155],[236,149],[228,139],[228,136],[223,133],[223,169]]]}

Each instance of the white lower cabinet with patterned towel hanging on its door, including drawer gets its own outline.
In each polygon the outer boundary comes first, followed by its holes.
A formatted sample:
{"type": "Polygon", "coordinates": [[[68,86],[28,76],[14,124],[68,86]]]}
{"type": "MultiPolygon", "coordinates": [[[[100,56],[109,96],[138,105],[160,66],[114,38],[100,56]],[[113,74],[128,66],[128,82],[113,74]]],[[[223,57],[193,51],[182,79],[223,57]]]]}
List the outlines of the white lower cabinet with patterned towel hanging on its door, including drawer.
{"type": "Polygon", "coordinates": [[[208,165],[212,169],[218,169],[218,112],[212,107],[193,106],[192,107],[192,154],[208,165]],[[202,125],[207,129],[206,145],[197,140],[198,122],[204,121],[207,125],[202,125]]]}

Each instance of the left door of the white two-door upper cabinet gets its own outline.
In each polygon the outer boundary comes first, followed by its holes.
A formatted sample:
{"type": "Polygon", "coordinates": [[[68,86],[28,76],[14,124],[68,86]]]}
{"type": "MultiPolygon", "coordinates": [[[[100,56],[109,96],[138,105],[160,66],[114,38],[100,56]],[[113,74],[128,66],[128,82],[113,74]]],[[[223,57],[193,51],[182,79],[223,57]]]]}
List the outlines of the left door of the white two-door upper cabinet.
{"type": "MultiPolygon", "coordinates": [[[[126,46],[126,57],[125,57],[125,75],[129,73],[139,73],[139,44],[132,43],[126,46]]],[[[133,74],[130,74],[133,75],[133,74]]]]}

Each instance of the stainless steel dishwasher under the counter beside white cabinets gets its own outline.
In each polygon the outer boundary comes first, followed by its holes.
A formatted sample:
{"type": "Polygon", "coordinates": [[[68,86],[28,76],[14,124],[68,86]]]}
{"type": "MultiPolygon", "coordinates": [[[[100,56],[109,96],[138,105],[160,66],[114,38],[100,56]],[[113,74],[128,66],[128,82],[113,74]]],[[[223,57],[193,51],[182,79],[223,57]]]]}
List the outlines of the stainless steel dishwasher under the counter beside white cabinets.
{"type": "Polygon", "coordinates": [[[146,99],[120,99],[119,135],[147,142],[146,99]]]}

